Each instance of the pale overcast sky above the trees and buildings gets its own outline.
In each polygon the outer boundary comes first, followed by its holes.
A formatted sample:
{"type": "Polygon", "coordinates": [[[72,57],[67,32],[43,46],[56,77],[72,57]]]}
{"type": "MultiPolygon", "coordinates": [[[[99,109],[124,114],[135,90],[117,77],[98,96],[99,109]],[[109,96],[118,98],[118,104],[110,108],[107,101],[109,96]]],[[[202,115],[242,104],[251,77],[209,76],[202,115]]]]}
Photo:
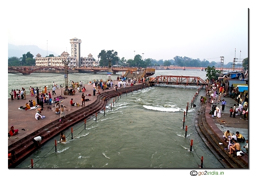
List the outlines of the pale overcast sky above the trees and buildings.
{"type": "Polygon", "coordinates": [[[69,39],[76,37],[82,40],[81,56],[91,53],[95,59],[101,50],[114,50],[126,60],[135,51],[155,60],[187,56],[219,62],[224,56],[227,64],[235,48],[236,58],[248,57],[252,5],[240,1],[41,2],[11,4],[8,43],[44,50],[48,43],[48,51],[71,54],[69,39]]]}

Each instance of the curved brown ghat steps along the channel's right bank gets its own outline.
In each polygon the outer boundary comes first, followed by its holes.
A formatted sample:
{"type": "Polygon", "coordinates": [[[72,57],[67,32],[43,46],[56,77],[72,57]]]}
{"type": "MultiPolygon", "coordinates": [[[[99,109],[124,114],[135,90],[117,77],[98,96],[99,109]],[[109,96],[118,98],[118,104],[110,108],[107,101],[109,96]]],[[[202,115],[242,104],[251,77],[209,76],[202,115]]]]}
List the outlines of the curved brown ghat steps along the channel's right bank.
{"type": "MultiPolygon", "coordinates": [[[[206,107],[207,105],[203,104],[203,106],[206,107]]],[[[234,158],[228,154],[228,150],[224,149],[227,148],[227,143],[225,143],[223,140],[219,140],[218,137],[216,137],[216,134],[212,132],[212,126],[210,127],[206,122],[205,113],[200,112],[199,116],[198,121],[201,132],[204,134],[216,152],[222,157],[222,159],[232,168],[248,168],[248,166],[245,165],[241,160],[239,160],[237,157],[234,158]],[[220,145],[219,143],[223,143],[223,145],[220,145]]]]}

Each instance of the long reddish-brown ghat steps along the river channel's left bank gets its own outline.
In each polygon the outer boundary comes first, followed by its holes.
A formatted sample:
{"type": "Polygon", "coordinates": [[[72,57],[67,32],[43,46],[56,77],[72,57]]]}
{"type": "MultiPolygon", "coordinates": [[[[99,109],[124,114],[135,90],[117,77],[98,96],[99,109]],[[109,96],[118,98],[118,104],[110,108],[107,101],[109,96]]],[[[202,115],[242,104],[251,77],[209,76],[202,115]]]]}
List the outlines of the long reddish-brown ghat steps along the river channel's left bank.
{"type": "Polygon", "coordinates": [[[101,100],[103,97],[107,97],[109,99],[112,97],[116,97],[120,94],[124,94],[126,92],[137,91],[143,88],[145,89],[146,87],[148,87],[147,84],[144,86],[140,84],[135,85],[134,87],[119,89],[117,92],[102,92],[100,95],[97,96],[97,100],[95,100],[92,104],[66,115],[64,121],[59,122],[59,120],[55,120],[50,124],[47,124],[44,127],[36,130],[35,132],[30,133],[28,136],[8,146],[8,152],[15,151],[17,157],[16,162],[12,165],[9,165],[8,168],[14,168],[36,150],[32,141],[34,137],[44,136],[45,139],[41,142],[41,144],[43,145],[45,142],[52,139],[54,136],[58,135],[66,128],[84,119],[89,119],[92,115],[94,115],[94,113],[101,111],[106,106],[106,101],[101,100]]]}

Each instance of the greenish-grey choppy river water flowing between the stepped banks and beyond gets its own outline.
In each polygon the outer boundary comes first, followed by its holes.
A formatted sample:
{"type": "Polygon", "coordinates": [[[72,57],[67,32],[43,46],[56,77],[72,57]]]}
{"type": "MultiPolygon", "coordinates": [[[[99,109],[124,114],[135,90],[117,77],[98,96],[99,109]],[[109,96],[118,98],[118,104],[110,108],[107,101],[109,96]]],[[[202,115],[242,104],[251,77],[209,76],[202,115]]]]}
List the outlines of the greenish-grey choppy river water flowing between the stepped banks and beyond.
{"type": "MultiPolygon", "coordinates": [[[[34,73],[28,77],[8,74],[8,89],[52,84],[61,84],[64,75],[34,73]]],[[[113,76],[115,79],[118,73],[113,76]]],[[[200,70],[156,70],[154,76],[198,76],[206,78],[200,70]]],[[[93,79],[107,79],[104,74],[69,74],[68,79],[84,82],[93,79]]],[[[97,122],[92,116],[86,123],[64,131],[65,143],[57,145],[48,141],[39,150],[25,159],[16,168],[28,168],[31,159],[34,168],[198,168],[204,156],[205,168],[224,168],[204,144],[195,128],[196,109],[190,108],[186,116],[188,137],[185,138],[183,115],[187,102],[191,103],[198,87],[196,86],[155,86],[138,92],[123,94],[112,111],[108,108],[105,116],[98,115],[97,122]],[[193,140],[190,152],[190,140],[193,140]]],[[[28,89],[27,89],[28,90],[28,89]]],[[[10,90],[9,90],[10,91],[10,90]]],[[[200,92],[199,95],[203,95],[200,92]]],[[[113,101],[113,100],[112,100],[113,101]]],[[[111,100],[109,102],[112,102],[111,100]]],[[[199,104],[199,99],[196,100],[199,104]]]]}

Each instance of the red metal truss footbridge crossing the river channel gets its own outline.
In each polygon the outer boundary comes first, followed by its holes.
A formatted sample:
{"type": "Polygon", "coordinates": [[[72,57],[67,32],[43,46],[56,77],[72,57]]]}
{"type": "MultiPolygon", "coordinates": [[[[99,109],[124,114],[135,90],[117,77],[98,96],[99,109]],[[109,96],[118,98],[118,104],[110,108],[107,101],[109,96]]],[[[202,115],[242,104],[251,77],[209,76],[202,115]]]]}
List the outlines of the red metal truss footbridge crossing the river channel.
{"type": "Polygon", "coordinates": [[[156,76],[150,77],[149,84],[173,84],[173,85],[195,85],[205,86],[207,83],[200,77],[196,76],[156,76]]]}

